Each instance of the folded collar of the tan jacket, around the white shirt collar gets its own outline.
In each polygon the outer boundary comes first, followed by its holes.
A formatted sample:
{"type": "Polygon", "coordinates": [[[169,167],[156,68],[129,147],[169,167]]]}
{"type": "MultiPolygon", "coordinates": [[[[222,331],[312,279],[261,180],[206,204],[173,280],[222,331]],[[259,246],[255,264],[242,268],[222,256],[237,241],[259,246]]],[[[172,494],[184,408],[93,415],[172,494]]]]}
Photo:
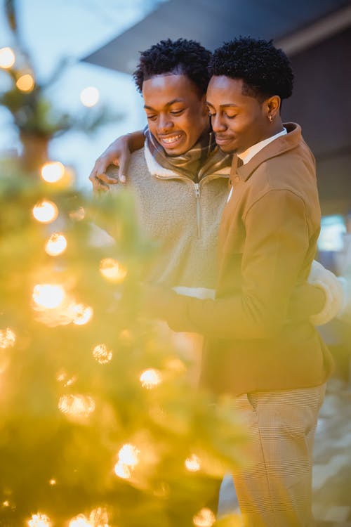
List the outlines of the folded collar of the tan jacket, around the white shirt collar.
{"type": "Polygon", "coordinates": [[[237,167],[238,157],[233,156],[232,168],[230,170],[230,180],[234,179],[234,176],[239,176],[241,181],[249,179],[251,174],[262,164],[263,162],[282,155],[284,152],[293,150],[296,148],[301,141],[301,127],[296,123],[284,123],[286,131],[288,132],[284,136],[277,137],[272,143],[265,146],[260,152],[253,156],[253,158],[246,164],[237,167]]]}

